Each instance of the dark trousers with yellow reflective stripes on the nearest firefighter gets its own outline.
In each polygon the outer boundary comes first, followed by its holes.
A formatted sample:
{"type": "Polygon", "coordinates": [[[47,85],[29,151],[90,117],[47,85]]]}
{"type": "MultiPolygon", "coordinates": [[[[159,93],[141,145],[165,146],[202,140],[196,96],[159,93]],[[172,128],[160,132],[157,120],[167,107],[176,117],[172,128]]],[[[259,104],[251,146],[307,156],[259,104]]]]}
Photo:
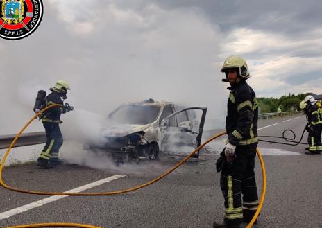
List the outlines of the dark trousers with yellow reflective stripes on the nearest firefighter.
{"type": "Polygon", "coordinates": [[[232,164],[221,171],[221,191],[225,199],[225,219],[242,220],[243,212],[255,214],[259,200],[255,181],[255,157],[257,143],[237,146],[237,156],[232,164]]]}

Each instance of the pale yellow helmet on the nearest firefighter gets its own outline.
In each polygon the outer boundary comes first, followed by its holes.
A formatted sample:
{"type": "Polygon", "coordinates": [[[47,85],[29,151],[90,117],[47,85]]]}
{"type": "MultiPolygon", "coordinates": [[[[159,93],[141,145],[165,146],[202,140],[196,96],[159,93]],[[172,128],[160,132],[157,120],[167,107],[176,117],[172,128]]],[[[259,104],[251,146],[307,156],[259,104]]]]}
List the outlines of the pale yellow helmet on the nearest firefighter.
{"type": "Polygon", "coordinates": [[[232,55],[228,57],[225,62],[223,62],[223,66],[221,67],[221,72],[227,71],[227,69],[238,68],[239,76],[242,78],[249,78],[251,75],[248,71],[248,66],[246,60],[238,55],[232,55]]]}

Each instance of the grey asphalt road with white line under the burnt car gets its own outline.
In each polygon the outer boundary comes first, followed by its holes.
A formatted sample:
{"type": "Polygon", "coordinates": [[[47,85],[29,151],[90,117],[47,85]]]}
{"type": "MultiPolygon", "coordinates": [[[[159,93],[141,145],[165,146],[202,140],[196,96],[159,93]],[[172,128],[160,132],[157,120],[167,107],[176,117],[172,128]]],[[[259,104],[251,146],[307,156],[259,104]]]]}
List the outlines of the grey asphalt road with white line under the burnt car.
{"type": "MultiPolygon", "coordinates": [[[[280,136],[285,129],[303,132],[304,116],[260,121],[260,135],[280,136]]],[[[303,141],[306,141],[305,133],[303,141]]],[[[263,138],[261,138],[263,139],[263,138]]],[[[276,139],[273,139],[276,140],[276,139]]],[[[282,141],[282,140],[279,140],[282,141]]],[[[77,222],[99,227],[212,227],[223,216],[219,173],[214,160],[224,139],[211,143],[201,159],[189,161],[151,186],[114,196],[49,198],[0,188],[0,227],[42,222],[77,222]],[[42,200],[40,202],[37,202],[42,200]],[[28,207],[26,206],[28,204],[28,207]]],[[[322,227],[322,155],[305,155],[305,145],[286,146],[260,142],[267,173],[267,192],[262,214],[254,227],[322,227]]],[[[162,157],[158,163],[142,161],[96,170],[63,165],[42,170],[35,165],[3,170],[10,186],[37,191],[69,191],[107,177],[82,192],[107,192],[143,184],[163,173],[180,157],[162,157]]],[[[257,185],[262,173],[256,161],[257,185]]],[[[243,225],[246,227],[246,224],[243,225]]]]}

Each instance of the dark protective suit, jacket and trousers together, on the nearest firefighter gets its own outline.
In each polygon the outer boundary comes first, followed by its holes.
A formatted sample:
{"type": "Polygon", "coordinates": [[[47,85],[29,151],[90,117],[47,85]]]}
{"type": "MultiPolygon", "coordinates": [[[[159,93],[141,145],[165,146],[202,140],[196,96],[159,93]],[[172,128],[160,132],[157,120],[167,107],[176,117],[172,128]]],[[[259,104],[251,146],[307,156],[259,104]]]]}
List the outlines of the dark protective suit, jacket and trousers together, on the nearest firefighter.
{"type": "Polygon", "coordinates": [[[230,89],[226,131],[228,141],[237,146],[232,164],[221,171],[221,191],[225,199],[225,219],[249,222],[258,207],[255,181],[258,107],[255,92],[245,80],[230,89]],[[242,197],[243,194],[243,197],[242,197]]]}

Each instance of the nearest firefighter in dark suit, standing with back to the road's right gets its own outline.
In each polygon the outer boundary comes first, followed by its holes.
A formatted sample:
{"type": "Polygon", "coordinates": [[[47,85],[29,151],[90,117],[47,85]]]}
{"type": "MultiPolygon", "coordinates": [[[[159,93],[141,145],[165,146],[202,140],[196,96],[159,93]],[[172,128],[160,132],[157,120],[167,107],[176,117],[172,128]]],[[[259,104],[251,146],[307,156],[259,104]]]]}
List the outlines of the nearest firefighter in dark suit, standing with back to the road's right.
{"type": "Polygon", "coordinates": [[[246,82],[250,74],[243,58],[230,56],[223,62],[221,72],[226,74],[223,81],[230,83],[228,140],[223,150],[226,161],[220,177],[225,216],[223,222],[214,222],[214,228],[235,228],[243,221],[250,222],[259,204],[254,172],[258,107],[255,92],[246,82]]]}

